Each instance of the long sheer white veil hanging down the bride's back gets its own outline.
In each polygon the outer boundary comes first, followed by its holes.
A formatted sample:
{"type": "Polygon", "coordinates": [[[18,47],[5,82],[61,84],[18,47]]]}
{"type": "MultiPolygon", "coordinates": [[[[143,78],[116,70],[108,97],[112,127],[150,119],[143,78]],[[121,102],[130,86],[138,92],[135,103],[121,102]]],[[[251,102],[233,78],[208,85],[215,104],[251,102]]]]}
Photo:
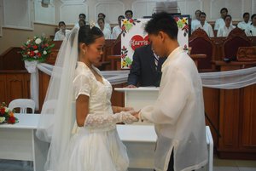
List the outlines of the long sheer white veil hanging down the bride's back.
{"type": "Polygon", "coordinates": [[[50,142],[45,170],[67,170],[67,152],[75,122],[73,77],[79,55],[79,28],[61,44],[38,123],[39,140],[50,142]]]}

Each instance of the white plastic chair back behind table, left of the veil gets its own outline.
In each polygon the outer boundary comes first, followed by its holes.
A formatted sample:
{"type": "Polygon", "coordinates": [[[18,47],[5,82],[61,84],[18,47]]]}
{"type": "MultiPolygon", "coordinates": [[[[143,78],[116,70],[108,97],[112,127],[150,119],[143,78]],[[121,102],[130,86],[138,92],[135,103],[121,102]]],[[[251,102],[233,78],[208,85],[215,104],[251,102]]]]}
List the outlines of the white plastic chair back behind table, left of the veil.
{"type": "Polygon", "coordinates": [[[32,109],[32,113],[34,113],[36,108],[36,103],[34,102],[34,100],[31,100],[31,99],[12,100],[9,103],[9,109],[13,110],[15,108],[20,108],[20,114],[25,114],[27,108],[32,109]]]}

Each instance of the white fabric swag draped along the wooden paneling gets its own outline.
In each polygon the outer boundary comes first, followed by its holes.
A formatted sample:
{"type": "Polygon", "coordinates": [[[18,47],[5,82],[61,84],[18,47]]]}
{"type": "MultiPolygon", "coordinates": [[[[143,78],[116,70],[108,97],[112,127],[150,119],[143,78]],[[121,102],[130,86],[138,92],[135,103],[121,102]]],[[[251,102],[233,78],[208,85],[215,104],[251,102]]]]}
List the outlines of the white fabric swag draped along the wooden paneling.
{"type": "MultiPolygon", "coordinates": [[[[45,63],[38,63],[40,71],[51,75],[53,66],[45,63]]],[[[102,71],[103,77],[107,78],[112,85],[126,83],[129,70],[126,71],[102,71]]],[[[31,73],[31,94],[32,99],[36,102],[38,110],[38,72],[31,73]]],[[[244,88],[256,83],[256,67],[235,70],[235,71],[216,71],[200,73],[203,87],[235,89],[244,88]]]]}

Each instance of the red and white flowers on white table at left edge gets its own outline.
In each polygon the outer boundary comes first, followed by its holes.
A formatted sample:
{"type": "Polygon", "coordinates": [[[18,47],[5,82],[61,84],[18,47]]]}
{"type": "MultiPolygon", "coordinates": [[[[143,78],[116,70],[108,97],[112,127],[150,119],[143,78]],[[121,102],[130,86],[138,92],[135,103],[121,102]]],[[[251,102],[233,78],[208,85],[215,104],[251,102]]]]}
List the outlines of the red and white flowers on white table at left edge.
{"type": "Polygon", "coordinates": [[[19,120],[15,117],[14,112],[9,110],[4,102],[0,104],[0,123],[19,123],[19,120]]]}

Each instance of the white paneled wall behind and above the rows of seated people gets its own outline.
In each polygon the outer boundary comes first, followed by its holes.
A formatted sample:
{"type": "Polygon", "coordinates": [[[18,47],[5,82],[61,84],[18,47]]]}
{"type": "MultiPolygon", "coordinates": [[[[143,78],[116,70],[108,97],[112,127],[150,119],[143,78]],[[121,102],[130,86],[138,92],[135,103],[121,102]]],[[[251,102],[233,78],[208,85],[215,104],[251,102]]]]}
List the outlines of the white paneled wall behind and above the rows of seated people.
{"type": "MultiPolygon", "coordinates": [[[[97,14],[102,12],[108,22],[117,24],[118,15],[126,9],[140,18],[152,14],[157,2],[160,0],[50,0],[48,6],[42,6],[41,0],[0,0],[0,35],[1,26],[32,30],[33,23],[57,25],[60,20],[73,26],[80,13],[86,14],[87,21],[96,22],[97,14]]],[[[256,0],[177,0],[177,4],[182,14],[194,18],[195,10],[201,9],[211,21],[219,18],[223,7],[229,9],[233,20],[241,20],[244,12],[256,12],[256,0]]]]}

